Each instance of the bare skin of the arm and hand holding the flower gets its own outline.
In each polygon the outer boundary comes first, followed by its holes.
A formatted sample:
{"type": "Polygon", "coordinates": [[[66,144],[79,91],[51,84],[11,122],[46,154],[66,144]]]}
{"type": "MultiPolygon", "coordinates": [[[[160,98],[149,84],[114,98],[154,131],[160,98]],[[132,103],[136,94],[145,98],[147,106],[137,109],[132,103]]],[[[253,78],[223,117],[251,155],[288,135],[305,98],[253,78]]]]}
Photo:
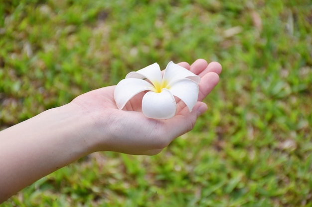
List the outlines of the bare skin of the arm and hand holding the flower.
{"type": "Polygon", "coordinates": [[[84,93],[0,132],[0,203],[36,180],[96,151],[155,155],[172,140],[190,131],[207,110],[202,100],[219,82],[217,62],[196,60],[179,64],[201,77],[198,102],[192,112],[177,101],[168,120],[147,118],[141,112],[144,92],[119,110],[115,86],[84,93]]]}

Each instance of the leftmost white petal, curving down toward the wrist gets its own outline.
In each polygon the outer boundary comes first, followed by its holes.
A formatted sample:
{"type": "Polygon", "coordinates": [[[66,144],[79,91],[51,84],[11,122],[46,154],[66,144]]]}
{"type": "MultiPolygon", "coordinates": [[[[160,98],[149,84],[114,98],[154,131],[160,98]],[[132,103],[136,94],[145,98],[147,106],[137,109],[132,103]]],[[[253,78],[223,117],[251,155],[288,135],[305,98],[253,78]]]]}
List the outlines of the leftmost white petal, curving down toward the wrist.
{"type": "Polygon", "coordinates": [[[122,109],[132,97],[142,91],[152,90],[153,88],[151,83],[143,79],[123,79],[115,87],[114,99],[116,105],[119,109],[122,109]]]}

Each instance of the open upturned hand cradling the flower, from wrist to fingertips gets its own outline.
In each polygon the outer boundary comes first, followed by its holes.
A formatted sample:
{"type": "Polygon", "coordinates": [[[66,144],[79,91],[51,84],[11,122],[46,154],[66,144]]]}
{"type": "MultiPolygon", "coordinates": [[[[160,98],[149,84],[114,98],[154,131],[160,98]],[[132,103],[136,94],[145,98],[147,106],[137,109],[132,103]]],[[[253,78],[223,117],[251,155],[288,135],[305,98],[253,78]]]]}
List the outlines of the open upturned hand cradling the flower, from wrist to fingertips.
{"type": "Polygon", "coordinates": [[[94,140],[94,151],[117,151],[128,154],[159,153],[174,138],[190,131],[199,115],[207,110],[201,102],[217,85],[222,67],[199,59],[191,66],[179,64],[201,77],[198,102],[189,113],[182,101],[177,101],[177,113],[168,120],[147,118],[141,112],[142,92],[129,101],[124,110],[118,110],[114,101],[114,88],[109,86],[82,94],[70,104],[88,116],[91,129],[88,138],[94,140]]]}

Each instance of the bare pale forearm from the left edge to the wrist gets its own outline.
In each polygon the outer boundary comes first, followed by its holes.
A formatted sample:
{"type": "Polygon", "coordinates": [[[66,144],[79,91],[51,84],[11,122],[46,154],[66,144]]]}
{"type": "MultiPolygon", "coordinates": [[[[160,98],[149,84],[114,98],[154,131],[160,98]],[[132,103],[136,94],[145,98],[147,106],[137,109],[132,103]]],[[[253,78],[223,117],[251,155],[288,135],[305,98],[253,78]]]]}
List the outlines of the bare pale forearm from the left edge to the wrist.
{"type": "Polygon", "coordinates": [[[0,132],[0,203],[92,152],[88,119],[71,106],[47,110],[0,132]]]}

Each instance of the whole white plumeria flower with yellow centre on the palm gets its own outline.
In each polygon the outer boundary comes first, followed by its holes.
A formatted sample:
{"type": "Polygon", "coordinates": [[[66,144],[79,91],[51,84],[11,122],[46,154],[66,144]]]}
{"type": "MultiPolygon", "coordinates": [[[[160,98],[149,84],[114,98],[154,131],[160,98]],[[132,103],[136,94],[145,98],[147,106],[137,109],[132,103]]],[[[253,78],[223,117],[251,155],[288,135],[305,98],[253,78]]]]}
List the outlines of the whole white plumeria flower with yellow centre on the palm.
{"type": "Polygon", "coordinates": [[[154,63],[136,72],[130,72],[121,80],[114,92],[116,105],[123,109],[126,103],[140,92],[148,91],[142,99],[142,112],[154,119],[170,119],[176,113],[174,96],[182,100],[189,112],[195,106],[200,77],[188,69],[168,63],[163,76],[154,63]]]}

